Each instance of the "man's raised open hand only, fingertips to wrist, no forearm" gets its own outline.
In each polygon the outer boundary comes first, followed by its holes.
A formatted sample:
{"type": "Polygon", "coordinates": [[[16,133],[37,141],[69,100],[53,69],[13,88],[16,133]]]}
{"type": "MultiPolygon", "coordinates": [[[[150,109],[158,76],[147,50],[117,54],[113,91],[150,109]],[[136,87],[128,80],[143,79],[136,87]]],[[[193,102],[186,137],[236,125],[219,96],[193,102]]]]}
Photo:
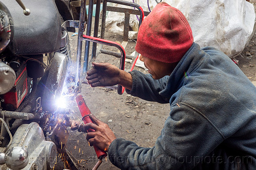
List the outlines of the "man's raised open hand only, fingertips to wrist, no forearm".
{"type": "Polygon", "coordinates": [[[88,84],[92,87],[114,86],[120,82],[120,69],[109,63],[95,63],[93,68],[87,71],[88,84]]]}

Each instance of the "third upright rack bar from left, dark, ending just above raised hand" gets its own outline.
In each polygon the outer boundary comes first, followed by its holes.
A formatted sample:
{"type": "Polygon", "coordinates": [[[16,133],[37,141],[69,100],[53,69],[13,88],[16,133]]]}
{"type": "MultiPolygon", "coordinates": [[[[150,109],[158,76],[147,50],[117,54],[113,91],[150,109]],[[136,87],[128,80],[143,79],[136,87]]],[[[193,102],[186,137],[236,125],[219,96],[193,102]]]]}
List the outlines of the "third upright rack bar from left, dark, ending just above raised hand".
{"type": "MultiPolygon", "coordinates": [[[[93,32],[93,36],[94,36],[94,37],[98,37],[98,31],[99,31],[99,15],[100,15],[100,3],[101,3],[101,0],[97,0],[97,2],[96,2],[95,20],[94,20],[94,32],[93,32]]],[[[96,42],[93,42],[92,58],[96,58],[96,48],[97,48],[97,43],[96,43],[96,42]]]]}

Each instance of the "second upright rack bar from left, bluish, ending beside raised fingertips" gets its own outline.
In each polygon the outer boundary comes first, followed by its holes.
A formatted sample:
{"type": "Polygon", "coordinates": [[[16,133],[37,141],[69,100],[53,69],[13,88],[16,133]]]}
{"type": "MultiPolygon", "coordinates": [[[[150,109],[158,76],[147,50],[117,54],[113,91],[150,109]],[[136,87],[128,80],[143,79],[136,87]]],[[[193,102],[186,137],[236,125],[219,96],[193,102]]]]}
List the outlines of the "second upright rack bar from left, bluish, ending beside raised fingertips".
{"type": "MultiPolygon", "coordinates": [[[[91,36],[92,17],[93,17],[93,0],[89,0],[88,23],[87,23],[87,30],[86,30],[86,35],[88,36],[91,36]]],[[[88,69],[89,50],[90,50],[90,41],[86,41],[86,47],[84,50],[84,58],[83,58],[83,70],[82,70],[83,75],[86,74],[88,69]]]]}

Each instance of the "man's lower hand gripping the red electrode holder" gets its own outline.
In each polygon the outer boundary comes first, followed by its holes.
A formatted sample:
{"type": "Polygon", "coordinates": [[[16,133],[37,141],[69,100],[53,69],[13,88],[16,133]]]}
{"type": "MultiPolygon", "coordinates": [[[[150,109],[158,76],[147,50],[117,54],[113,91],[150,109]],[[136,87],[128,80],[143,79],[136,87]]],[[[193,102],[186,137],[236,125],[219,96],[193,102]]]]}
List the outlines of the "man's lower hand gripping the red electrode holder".
{"type": "Polygon", "coordinates": [[[114,132],[108,125],[101,122],[93,114],[90,114],[93,123],[88,123],[83,126],[83,131],[94,129],[95,132],[88,132],[86,139],[89,141],[90,146],[95,145],[102,151],[108,152],[110,143],[116,139],[114,132]]]}

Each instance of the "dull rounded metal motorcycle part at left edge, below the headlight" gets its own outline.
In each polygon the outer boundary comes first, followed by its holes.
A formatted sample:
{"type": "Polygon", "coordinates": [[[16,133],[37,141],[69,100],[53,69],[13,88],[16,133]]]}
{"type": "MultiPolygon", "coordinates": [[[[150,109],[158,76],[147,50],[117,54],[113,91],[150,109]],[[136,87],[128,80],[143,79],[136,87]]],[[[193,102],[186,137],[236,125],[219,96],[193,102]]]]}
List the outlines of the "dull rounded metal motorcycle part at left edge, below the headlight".
{"type": "Polygon", "coordinates": [[[10,91],[15,81],[16,75],[14,70],[9,65],[0,62],[0,94],[10,91]]]}

